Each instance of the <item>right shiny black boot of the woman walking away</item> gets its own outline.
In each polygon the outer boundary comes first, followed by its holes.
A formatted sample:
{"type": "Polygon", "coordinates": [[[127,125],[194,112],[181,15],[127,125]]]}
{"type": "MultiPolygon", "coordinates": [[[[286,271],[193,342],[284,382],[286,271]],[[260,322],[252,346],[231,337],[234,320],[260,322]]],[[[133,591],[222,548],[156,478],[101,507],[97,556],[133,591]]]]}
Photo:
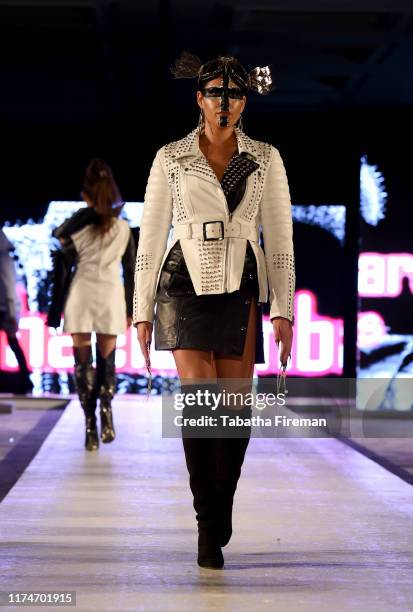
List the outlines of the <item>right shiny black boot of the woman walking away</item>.
{"type": "Polygon", "coordinates": [[[111,404],[116,390],[115,354],[116,349],[113,349],[104,358],[99,353],[99,349],[96,349],[97,391],[100,398],[100,437],[104,444],[113,442],[116,436],[111,404]]]}

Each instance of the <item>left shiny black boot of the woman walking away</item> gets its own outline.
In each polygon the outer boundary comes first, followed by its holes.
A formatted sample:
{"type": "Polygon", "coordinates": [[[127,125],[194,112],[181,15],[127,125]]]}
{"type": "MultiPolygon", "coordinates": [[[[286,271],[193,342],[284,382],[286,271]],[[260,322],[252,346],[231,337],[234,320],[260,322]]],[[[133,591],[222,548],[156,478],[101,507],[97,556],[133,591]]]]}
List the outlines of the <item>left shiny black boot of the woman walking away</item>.
{"type": "MultiPolygon", "coordinates": [[[[83,349],[83,347],[82,347],[83,349]]],[[[73,348],[75,358],[75,383],[80,405],[85,414],[86,437],[85,448],[88,451],[99,448],[99,437],[96,425],[96,385],[95,370],[93,368],[92,348],[86,361],[81,360],[80,351],[73,348]]]]}

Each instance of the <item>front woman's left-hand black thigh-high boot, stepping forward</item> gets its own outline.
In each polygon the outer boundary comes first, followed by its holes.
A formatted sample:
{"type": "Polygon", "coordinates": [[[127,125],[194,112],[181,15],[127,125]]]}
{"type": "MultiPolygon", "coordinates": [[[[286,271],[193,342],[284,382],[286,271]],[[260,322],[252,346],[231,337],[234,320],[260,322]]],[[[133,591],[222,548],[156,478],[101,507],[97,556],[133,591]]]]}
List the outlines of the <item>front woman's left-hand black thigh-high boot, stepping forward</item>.
{"type": "MultiPolygon", "coordinates": [[[[182,393],[196,393],[211,385],[182,385],[182,393]]],[[[197,418],[213,414],[210,409],[185,405],[183,418],[197,418]]],[[[182,427],[182,442],[189,472],[189,485],[194,496],[193,505],[198,523],[198,565],[219,569],[224,565],[219,544],[219,517],[216,506],[215,437],[191,437],[190,427],[182,427]]],[[[202,427],[201,435],[207,435],[202,427]]],[[[193,432],[192,432],[193,433],[193,432]]]]}

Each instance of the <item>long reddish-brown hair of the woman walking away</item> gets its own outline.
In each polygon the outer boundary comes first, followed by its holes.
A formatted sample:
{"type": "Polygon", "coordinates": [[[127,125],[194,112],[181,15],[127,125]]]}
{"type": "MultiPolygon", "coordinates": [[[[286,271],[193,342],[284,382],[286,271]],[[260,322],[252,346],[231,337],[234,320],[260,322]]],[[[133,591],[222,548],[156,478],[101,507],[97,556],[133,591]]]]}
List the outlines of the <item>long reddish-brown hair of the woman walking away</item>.
{"type": "Polygon", "coordinates": [[[82,192],[87,195],[99,215],[97,230],[103,235],[113,224],[122,208],[122,196],[105,160],[92,159],[85,172],[82,192]]]}

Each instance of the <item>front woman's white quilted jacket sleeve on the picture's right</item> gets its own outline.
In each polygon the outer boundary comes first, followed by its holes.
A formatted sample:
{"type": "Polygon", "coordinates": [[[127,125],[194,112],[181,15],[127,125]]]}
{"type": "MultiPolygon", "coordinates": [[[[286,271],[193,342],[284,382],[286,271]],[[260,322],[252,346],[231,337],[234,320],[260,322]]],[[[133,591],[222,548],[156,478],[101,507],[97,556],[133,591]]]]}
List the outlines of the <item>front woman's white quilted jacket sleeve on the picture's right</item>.
{"type": "Polygon", "coordinates": [[[259,220],[270,290],[270,318],[284,317],[294,323],[295,266],[291,199],[284,163],[275,147],[271,147],[259,220]]]}

